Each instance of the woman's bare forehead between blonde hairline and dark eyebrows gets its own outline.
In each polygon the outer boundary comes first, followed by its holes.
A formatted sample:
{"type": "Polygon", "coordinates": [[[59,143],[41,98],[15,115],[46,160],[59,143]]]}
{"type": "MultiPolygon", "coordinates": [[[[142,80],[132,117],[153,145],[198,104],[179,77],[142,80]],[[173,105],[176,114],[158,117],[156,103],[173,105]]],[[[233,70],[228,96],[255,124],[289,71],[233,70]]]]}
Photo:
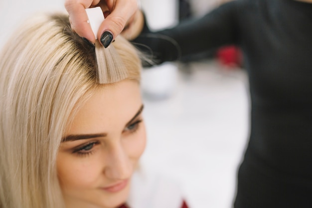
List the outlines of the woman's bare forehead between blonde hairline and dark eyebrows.
{"type": "Polygon", "coordinates": [[[119,130],[124,128],[141,106],[142,98],[137,82],[123,80],[97,88],[78,108],[66,135],[119,130]]]}

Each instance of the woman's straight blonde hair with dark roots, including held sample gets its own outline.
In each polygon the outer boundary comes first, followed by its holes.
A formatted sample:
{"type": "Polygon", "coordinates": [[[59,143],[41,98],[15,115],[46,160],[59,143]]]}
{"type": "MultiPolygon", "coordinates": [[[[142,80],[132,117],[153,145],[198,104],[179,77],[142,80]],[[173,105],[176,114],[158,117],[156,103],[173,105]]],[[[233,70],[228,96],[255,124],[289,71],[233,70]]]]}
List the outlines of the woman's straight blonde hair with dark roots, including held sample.
{"type": "Polygon", "coordinates": [[[64,207],[56,157],[72,112],[102,83],[139,82],[140,70],[121,36],[95,54],[68,15],[24,23],[0,54],[0,208],[64,207]]]}

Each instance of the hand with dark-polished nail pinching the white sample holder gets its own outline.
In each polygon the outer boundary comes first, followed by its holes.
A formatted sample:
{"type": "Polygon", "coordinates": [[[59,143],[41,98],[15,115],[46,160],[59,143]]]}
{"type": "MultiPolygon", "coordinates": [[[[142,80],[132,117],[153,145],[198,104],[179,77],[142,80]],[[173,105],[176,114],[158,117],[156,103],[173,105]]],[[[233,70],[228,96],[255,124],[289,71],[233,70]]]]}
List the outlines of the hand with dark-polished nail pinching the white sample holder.
{"type": "Polygon", "coordinates": [[[99,40],[107,47],[120,34],[138,9],[137,0],[65,0],[72,29],[81,37],[95,42],[86,8],[101,6],[105,20],[98,32],[99,40]],[[100,38],[101,37],[101,38],[100,38]]]}

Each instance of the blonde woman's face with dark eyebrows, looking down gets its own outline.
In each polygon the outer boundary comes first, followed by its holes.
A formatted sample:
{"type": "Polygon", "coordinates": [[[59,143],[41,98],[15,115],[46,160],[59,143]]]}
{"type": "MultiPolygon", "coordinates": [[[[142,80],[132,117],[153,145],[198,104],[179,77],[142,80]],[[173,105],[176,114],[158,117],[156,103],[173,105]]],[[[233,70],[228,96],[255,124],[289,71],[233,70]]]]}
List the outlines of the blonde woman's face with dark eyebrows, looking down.
{"type": "Polygon", "coordinates": [[[66,208],[116,208],[146,145],[139,84],[97,89],[64,135],[57,172],[66,208]]]}

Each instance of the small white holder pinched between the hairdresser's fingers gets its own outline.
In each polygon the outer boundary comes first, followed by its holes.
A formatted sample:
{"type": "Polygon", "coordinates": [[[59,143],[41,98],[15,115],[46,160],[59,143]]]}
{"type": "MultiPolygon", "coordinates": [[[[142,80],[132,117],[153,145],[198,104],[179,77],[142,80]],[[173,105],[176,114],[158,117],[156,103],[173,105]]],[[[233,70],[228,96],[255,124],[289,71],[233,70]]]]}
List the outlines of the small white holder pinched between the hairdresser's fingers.
{"type": "Polygon", "coordinates": [[[99,28],[104,21],[104,14],[100,6],[85,9],[88,15],[88,23],[94,33],[95,39],[98,39],[99,28]]]}

